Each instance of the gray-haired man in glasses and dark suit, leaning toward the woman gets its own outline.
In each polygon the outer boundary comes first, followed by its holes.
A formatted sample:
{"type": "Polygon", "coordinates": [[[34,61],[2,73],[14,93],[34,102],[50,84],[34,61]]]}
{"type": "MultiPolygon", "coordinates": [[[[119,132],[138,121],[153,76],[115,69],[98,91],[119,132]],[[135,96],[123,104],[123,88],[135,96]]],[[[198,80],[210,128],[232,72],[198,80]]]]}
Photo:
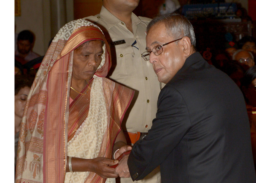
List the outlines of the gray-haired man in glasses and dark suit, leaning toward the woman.
{"type": "Polygon", "coordinates": [[[116,172],[140,180],[160,165],[163,183],[256,182],[239,88],[195,51],[194,30],[185,17],[156,17],[147,32],[143,57],[166,86],[151,130],[116,172]]]}

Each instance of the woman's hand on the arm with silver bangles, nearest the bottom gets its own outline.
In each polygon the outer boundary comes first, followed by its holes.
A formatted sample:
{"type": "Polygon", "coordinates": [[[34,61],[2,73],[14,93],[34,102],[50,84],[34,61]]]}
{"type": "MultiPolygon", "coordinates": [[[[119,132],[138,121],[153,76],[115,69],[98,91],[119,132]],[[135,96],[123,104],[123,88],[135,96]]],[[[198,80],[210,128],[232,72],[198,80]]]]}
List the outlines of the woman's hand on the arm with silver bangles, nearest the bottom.
{"type": "Polygon", "coordinates": [[[95,172],[102,178],[116,178],[118,173],[115,172],[114,168],[110,168],[112,165],[116,165],[118,160],[111,160],[105,157],[96,157],[91,159],[91,171],[95,172]]]}

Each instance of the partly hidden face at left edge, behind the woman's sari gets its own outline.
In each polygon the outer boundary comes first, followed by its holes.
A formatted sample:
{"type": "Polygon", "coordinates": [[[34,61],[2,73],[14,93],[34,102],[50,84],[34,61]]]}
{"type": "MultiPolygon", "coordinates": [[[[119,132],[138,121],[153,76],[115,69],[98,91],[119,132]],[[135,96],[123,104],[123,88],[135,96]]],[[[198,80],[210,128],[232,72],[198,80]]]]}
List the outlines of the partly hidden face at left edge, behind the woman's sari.
{"type": "Polygon", "coordinates": [[[14,112],[15,112],[15,116],[18,117],[22,117],[23,115],[23,111],[25,108],[25,104],[26,104],[26,99],[29,95],[29,87],[23,87],[20,89],[20,91],[17,93],[17,95],[15,95],[15,106],[14,106],[14,112]]]}

